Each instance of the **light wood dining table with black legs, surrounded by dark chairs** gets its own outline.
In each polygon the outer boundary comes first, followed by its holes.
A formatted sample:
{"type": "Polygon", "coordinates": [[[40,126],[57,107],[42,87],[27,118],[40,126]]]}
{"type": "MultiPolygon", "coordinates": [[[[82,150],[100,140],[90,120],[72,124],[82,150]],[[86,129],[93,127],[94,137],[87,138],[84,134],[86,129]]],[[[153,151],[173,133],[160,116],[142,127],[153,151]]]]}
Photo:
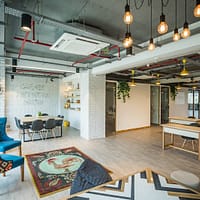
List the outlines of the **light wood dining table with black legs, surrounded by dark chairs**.
{"type": "MultiPolygon", "coordinates": [[[[43,122],[46,122],[48,119],[55,119],[55,120],[63,120],[63,118],[61,117],[53,117],[53,116],[39,116],[39,117],[23,117],[20,119],[20,121],[22,122],[22,124],[25,123],[32,123],[34,120],[40,119],[43,122]]],[[[62,126],[60,127],[60,136],[57,137],[62,137],[62,126]]],[[[23,131],[23,141],[27,142],[29,140],[25,140],[25,131],[23,131]]]]}

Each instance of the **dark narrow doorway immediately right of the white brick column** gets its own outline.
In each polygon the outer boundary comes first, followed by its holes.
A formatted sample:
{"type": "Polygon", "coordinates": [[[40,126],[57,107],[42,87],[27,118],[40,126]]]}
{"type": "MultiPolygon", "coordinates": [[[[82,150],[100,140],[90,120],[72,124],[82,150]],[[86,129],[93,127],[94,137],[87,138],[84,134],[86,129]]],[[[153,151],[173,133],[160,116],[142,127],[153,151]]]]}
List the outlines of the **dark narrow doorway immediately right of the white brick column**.
{"type": "Polygon", "coordinates": [[[106,137],[116,134],[116,83],[106,82],[106,137]]]}

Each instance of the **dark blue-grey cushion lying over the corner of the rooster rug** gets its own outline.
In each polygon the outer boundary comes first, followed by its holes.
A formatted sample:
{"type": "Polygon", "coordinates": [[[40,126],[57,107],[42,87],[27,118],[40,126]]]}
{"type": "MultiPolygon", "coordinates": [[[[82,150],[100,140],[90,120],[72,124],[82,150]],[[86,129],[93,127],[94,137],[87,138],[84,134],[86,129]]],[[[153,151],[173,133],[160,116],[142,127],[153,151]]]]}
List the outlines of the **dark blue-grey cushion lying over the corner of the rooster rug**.
{"type": "Polygon", "coordinates": [[[101,185],[111,180],[111,176],[104,167],[90,159],[86,159],[76,173],[70,194],[101,185]]]}

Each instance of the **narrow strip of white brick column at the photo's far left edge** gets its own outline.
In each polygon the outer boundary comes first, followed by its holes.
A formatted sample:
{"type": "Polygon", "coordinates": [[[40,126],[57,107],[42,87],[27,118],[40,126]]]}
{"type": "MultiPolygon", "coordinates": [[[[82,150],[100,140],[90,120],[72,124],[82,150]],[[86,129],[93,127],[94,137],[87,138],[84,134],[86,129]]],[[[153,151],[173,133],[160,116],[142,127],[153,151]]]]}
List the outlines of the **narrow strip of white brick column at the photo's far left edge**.
{"type": "Polygon", "coordinates": [[[0,116],[5,116],[5,3],[0,0],[0,116]]]}

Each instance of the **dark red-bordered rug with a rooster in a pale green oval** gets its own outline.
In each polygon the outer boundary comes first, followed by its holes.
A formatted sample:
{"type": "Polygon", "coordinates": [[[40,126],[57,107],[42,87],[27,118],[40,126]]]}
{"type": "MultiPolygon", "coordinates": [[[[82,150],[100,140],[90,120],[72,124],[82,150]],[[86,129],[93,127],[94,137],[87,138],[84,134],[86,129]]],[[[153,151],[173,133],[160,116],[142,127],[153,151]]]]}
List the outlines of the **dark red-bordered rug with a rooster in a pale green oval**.
{"type": "Polygon", "coordinates": [[[75,147],[26,155],[39,196],[69,188],[77,169],[87,158],[75,147]]]}

